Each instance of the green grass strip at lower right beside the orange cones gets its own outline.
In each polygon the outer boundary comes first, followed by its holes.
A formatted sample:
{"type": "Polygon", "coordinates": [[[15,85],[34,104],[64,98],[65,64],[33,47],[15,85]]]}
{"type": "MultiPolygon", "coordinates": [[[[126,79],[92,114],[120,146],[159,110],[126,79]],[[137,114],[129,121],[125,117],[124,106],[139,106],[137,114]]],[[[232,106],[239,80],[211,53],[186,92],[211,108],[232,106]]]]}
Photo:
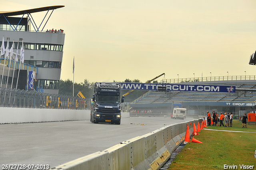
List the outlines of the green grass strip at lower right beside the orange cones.
{"type": "MultiPolygon", "coordinates": [[[[205,128],[206,129],[206,128],[205,128]]],[[[208,129],[256,132],[256,125],[242,128],[239,120],[233,127],[208,126],[208,129]]],[[[169,170],[223,170],[224,164],[253,165],[256,170],[256,133],[201,130],[195,139],[203,142],[188,143],[176,156],[169,170]]]]}

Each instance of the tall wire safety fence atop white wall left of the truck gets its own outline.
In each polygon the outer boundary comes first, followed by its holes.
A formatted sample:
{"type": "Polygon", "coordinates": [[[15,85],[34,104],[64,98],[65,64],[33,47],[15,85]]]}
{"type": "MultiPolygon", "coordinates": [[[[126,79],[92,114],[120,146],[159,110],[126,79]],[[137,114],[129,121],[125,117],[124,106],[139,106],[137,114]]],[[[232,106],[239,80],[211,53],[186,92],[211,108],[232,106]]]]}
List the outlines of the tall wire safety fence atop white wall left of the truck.
{"type": "Polygon", "coordinates": [[[0,90],[0,107],[89,110],[91,99],[33,90],[0,90]]]}

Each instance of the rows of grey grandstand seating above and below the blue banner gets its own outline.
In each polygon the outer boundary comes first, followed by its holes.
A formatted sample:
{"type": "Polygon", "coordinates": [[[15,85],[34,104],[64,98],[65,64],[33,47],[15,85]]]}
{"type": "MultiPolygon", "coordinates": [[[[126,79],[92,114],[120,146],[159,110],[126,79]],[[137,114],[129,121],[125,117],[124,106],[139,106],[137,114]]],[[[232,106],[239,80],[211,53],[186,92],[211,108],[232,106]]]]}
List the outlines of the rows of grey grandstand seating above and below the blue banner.
{"type": "MultiPolygon", "coordinates": [[[[255,83],[220,83],[213,82],[212,85],[236,86],[236,88],[256,89],[255,83]]],[[[156,92],[152,91],[136,103],[166,103],[166,102],[254,102],[256,101],[256,92],[236,92],[236,93],[218,93],[218,92],[156,92]]],[[[135,103],[134,103],[135,104],[135,103]]]]}

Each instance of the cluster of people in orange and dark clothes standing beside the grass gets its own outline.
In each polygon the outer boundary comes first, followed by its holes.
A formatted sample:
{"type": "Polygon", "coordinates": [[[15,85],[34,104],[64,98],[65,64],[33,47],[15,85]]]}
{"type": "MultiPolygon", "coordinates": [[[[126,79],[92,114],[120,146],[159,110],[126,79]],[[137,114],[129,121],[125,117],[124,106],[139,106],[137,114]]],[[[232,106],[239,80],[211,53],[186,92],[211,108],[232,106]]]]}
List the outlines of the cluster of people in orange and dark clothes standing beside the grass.
{"type": "Polygon", "coordinates": [[[225,123],[225,127],[232,127],[232,124],[233,124],[232,112],[224,113],[224,114],[222,114],[221,112],[219,117],[219,114],[217,114],[217,112],[212,112],[212,116],[211,116],[211,114],[207,111],[208,126],[211,126],[211,124],[212,126],[224,126],[223,121],[225,123]]]}

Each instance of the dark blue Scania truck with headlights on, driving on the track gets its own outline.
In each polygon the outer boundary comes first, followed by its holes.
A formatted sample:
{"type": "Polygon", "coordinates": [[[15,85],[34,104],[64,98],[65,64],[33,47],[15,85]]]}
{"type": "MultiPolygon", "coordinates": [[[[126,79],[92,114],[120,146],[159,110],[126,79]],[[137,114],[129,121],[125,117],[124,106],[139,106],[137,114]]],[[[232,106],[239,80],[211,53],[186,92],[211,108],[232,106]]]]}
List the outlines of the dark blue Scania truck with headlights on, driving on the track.
{"type": "Polygon", "coordinates": [[[124,102],[124,96],[120,97],[120,89],[119,83],[96,82],[94,84],[90,118],[92,123],[121,123],[120,104],[124,102]]]}

